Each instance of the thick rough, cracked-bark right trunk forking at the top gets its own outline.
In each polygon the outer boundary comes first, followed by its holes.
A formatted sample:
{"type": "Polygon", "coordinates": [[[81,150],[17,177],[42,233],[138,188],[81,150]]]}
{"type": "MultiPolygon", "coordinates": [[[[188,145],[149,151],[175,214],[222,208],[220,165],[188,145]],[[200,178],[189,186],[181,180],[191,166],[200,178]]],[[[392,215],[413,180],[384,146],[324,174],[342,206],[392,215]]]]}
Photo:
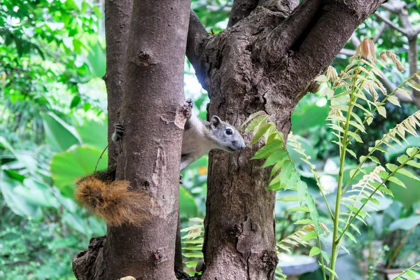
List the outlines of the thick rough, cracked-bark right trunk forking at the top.
{"type": "MultiPolygon", "coordinates": [[[[200,41],[204,34],[189,34],[188,49],[195,51],[187,54],[209,92],[209,116],[239,125],[262,110],[287,135],[305,88],[382,2],[310,0],[291,13],[296,1],[259,1],[215,36],[200,41]]],[[[195,24],[190,21],[190,33],[200,30],[195,24]]],[[[269,170],[249,160],[260,145],[239,154],[210,153],[202,279],[274,279],[275,194],[265,189],[269,170]]]]}

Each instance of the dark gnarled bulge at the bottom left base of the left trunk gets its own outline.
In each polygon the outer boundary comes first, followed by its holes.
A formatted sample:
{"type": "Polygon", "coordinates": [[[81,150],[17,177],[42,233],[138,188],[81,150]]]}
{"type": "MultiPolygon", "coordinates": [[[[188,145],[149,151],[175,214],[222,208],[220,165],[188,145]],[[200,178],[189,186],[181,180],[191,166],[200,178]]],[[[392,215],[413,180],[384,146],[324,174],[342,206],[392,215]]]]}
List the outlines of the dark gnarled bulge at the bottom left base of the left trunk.
{"type": "Polygon", "coordinates": [[[97,258],[103,258],[102,252],[106,242],[106,235],[90,239],[87,251],[77,253],[72,262],[73,273],[78,280],[95,279],[98,277],[98,267],[95,263],[104,263],[103,260],[97,262],[97,258]]]}

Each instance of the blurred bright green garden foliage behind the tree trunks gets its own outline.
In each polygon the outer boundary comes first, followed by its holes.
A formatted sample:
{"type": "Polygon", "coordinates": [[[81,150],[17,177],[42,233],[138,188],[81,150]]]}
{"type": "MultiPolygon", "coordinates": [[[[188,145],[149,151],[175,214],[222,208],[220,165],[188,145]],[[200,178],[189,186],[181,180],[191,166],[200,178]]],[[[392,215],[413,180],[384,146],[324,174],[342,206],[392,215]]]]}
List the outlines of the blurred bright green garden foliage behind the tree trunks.
{"type": "MultiPolygon", "coordinates": [[[[409,13],[414,24],[419,24],[417,6],[411,2],[407,0],[409,13]]],[[[196,0],[192,6],[208,31],[213,29],[218,33],[228,24],[232,1],[196,0]]],[[[371,17],[356,34],[359,38],[372,37],[379,28],[377,18],[371,17]]],[[[393,50],[407,63],[405,37],[387,29],[380,40],[378,52],[393,50]]],[[[91,237],[105,233],[104,223],[87,214],[73,200],[74,180],[93,171],[106,146],[106,91],[101,79],[105,73],[104,46],[102,1],[5,0],[0,3],[0,279],[73,279],[73,255],[87,248],[91,237]]],[[[349,43],[346,48],[354,47],[349,43]]],[[[339,55],[335,68],[344,69],[347,59],[339,55]]],[[[401,74],[396,69],[390,73],[389,78],[395,84],[408,78],[407,73],[401,74]]],[[[195,113],[207,118],[209,99],[188,62],[185,85],[186,95],[195,100],[195,113]]],[[[401,105],[386,107],[388,118],[367,128],[363,138],[366,144],[371,146],[374,140],[416,111],[413,104],[401,105]]],[[[307,94],[295,109],[292,130],[318,167],[316,171],[323,186],[330,186],[331,194],[326,198],[332,200],[338,178],[338,153],[331,142],[331,130],[325,125],[328,111],[326,97],[307,94]]],[[[407,139],[409,144],[405,148],[420,146],[415,138],[407,139]]],[[[367,146],[359,144],[353,151],[363,155],[367,146]]],[[[405,148],[390,149],[385,157],[378,158],[381,162],[395,163],[405,148]]],[[[324,222],[328,209],[322,203],[314,177],[299,153],[293,148],[288,151],[314,197],[320,221],[324,222]]],[[[349,176],[356,162],[346,162],[346,166],[345,176],[349,176]]],[[[106,154],[98,168],[105,167],[106,154]]],[[[395,199],[386,201],[387,207],[372,213],[366,219],[367,224],[359,226],[359,241],[349,246],[354,254],[351,260],[345,259],[347,264],[365,260],[367,267],[377,262],[388,265],[395,251],[387,248],[395,248],[404,239],[391,267],[407,267],[420,259],[418,249],[412,249],[420,239],[417,226],[420,185],[404,176],[400,180],[408,191],[391,186],[395,199]],[[375,258],[375,254],[381,258],[375,258]]],[[[182,227],[187,228],[184,240],[190,240],[190,244],[200,244],[201,232],[193,234],[188,228],[197,230],[200,228],[197,221],[201,220],[188,221],[188,218],[204,218],[206,181],[207,156],[188,167],[180,191],[182,227]],[[191,241],[194,238],[198,241],[191,241]]],[[[279,193],[279,196],[288,195],[279,193]]],[[[288,208],[285,202],[276,206],[279,240],[301,228],[295,221],[308,218],[288,208]]],[[[187,265],[193,267],[200,251],[196,246],[188,246],[188,242],[184,247],[189,248],[185,255],[187,265]]],[[[292,246],[290,253],[307,255],[309,251],[292,246]]],[[[357,278],[360,271],[355,267],[350,272],[355,278],[351,279],[360,279],[357,278]]],[[[307,277],[316,279],[314,275],[307,277]]]]}

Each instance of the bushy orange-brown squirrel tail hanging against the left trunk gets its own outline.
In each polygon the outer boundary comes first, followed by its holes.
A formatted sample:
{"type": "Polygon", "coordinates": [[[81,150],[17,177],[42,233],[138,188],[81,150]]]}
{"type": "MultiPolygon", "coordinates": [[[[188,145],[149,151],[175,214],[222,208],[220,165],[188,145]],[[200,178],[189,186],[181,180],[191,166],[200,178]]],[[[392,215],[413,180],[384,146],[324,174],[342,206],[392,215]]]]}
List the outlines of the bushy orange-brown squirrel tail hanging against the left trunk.
{"type": "Polygon", "coordinates": [[[141,225],[148,220],[146,206],[150,204],[150,197],[141,190],[128,190],[129,181],[102,181],[95,173],[76,184],[78,203],[109,225],[141,225]]]}

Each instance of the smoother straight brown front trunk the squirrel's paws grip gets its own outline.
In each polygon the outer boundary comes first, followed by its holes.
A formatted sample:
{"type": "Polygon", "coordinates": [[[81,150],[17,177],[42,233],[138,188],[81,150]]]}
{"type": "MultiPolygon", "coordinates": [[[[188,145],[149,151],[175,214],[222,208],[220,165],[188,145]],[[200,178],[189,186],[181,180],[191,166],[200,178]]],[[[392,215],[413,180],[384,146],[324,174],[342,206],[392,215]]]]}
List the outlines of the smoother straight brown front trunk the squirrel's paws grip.
{"type": "MultiPolygon", "coordinates": [[[[113,8],[120,8],[123,1],[116,2],[113,8]]],[[[111,85],[112,91],[118,92],[120,81],[125,80],[119,118],[125,134],[116,176],[130,181],[131,191],[142,191],[150,197],[145,206],[148,220],[141,227],[109,226],[106,239],[93,239],[89,250],[73,260],[78,279],[120,279],[128,275],[137,279],[175,278],[189,9],[189,0],[134,0],[127,57],[108,61],[127,61],[125,76],[118,66],[116,72],[122,76],[111,85]]],[[[128,26],[107,25],[106,31],[118,37],[118,28],[128,26]]],[[[118,102],[111,100],[111,104],[118,102]]]]}

